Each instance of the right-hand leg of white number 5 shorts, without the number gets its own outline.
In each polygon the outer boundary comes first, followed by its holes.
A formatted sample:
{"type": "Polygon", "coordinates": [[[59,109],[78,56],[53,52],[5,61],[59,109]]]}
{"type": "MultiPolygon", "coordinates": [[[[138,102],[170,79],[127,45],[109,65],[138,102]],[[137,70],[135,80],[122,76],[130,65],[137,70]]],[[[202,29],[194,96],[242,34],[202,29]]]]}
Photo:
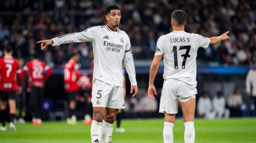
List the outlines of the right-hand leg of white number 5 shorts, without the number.
{"type": "Polygon", "coordinates": [[[109,93],[107,108],[124,109],[125,108],[125,94],[121,86],[112,86],[112,91],[109,93]]]}

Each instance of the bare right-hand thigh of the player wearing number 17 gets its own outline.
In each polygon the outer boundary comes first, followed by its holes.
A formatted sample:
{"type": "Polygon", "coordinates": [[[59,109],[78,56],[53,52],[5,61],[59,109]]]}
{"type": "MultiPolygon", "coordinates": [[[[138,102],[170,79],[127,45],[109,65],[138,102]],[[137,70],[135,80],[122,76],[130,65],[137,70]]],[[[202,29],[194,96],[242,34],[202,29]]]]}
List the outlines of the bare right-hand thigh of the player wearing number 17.
{"type": "Polygon", "coordinates": [[[187,121],[194,121],[195,97],[191,97],[185,102],[180,102],[180,106],[182,108],[184,123],[187,121]]]}

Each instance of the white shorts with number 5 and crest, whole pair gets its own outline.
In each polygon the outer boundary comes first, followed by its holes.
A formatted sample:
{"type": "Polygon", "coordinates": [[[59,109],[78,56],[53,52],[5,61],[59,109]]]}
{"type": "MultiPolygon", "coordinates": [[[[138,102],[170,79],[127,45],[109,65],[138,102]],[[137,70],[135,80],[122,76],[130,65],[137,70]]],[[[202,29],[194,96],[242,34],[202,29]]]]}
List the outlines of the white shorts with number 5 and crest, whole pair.
{"type": "Polygon", "coordinates": [[[92,84],[92,106],[115,109],[125,108],[123,87],[114,86],[95,79],[92,84]]]}

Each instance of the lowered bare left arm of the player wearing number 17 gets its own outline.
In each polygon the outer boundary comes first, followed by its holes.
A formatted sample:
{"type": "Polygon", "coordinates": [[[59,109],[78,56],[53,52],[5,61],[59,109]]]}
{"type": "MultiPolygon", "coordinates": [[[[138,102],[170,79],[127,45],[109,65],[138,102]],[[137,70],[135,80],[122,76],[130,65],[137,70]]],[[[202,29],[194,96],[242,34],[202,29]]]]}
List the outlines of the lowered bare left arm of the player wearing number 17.
{"type": "Polygon", "coordinates": [[[149,89],[147,90],[147,93],[149,97],[153,100],[155,100],[154,94],[157,95],[156,93],[156,87],[154,86],[154,80],[158,71],[159,63],[162,59],[163,55],[157,55],[154,56],[154,59],[151,63],[150,66],[150,71],[149,71],[149,89]]]}

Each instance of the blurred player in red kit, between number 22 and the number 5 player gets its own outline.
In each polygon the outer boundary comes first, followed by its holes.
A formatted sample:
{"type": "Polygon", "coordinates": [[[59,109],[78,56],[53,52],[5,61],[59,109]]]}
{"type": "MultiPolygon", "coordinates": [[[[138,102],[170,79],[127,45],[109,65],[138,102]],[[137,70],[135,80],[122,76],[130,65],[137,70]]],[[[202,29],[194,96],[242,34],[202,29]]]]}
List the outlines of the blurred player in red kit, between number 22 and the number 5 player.
{"type": "Polygon", "coordinates": [[[74,112],[76,109],[76,96],[79,90],[78,79],[82,76],[78,71],[80,66],[77,62],[79,59],[79,53],[73,53],[64,67],[64,88],[69,101],[69,117],[67,118],[67,124],[76,124],[74,112]]]}

